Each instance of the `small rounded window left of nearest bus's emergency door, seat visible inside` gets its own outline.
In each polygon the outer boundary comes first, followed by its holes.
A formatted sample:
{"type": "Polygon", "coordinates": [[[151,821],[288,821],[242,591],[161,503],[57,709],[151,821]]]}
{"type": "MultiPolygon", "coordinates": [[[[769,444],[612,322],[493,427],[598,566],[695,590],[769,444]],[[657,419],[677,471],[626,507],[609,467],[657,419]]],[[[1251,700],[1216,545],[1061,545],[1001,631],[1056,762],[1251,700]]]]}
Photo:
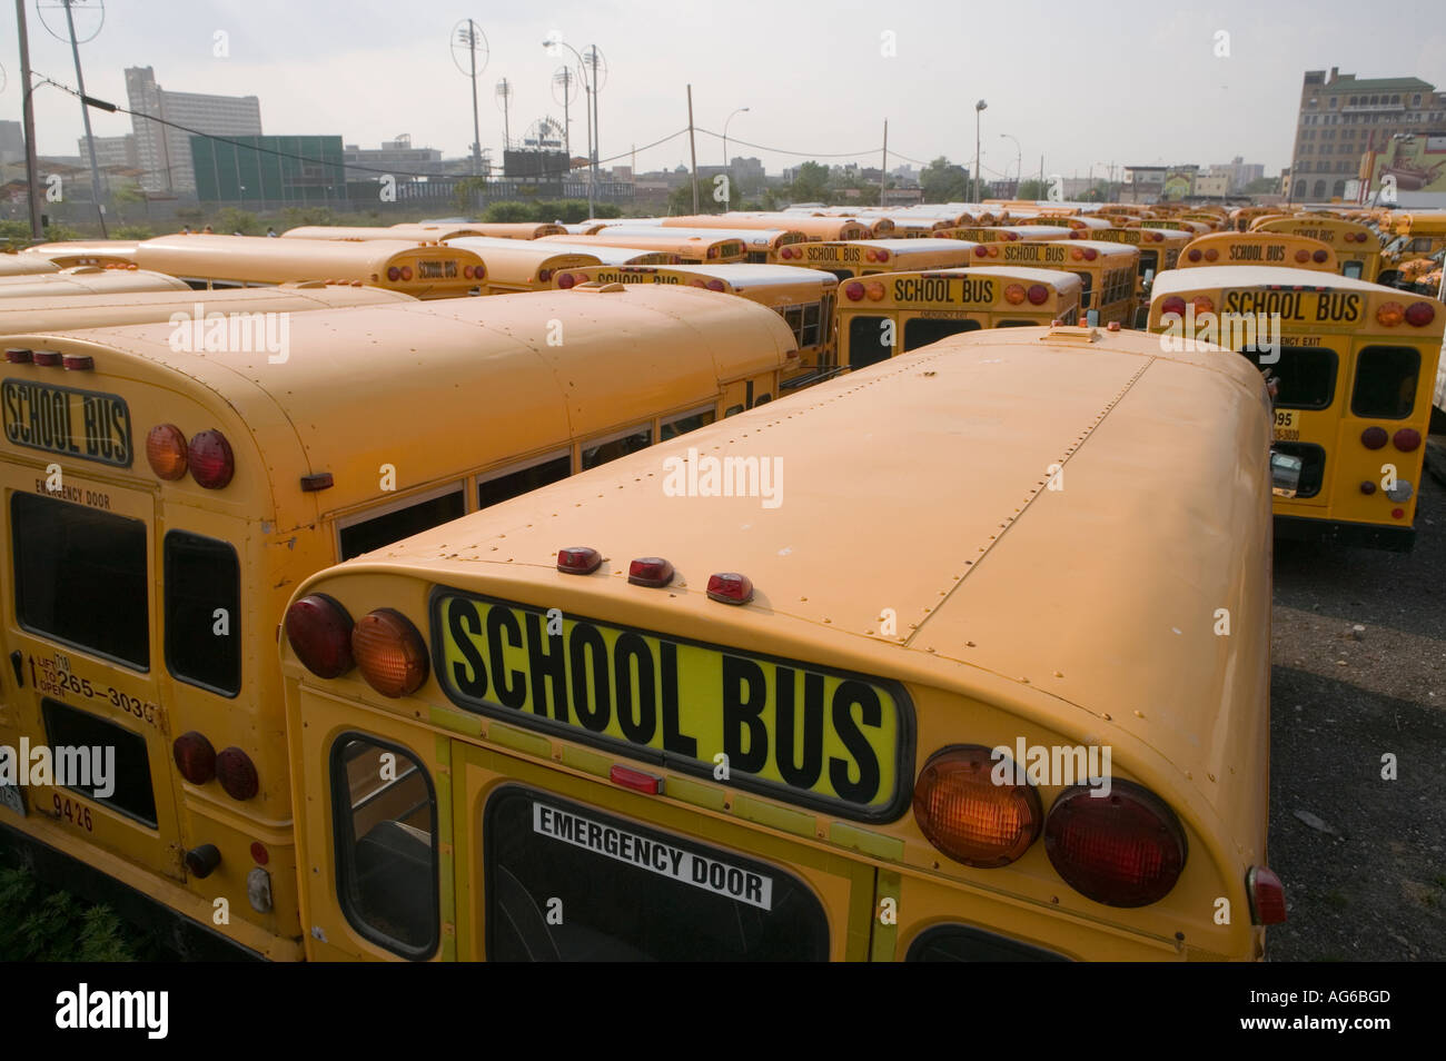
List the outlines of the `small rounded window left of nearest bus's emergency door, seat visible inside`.
{"type": "Polygon", "coordinates": [[[437,950],[437,794],[412,756],[360,733],[331,746],[337,901],[363,937],[406,958],[437,950]]]}

